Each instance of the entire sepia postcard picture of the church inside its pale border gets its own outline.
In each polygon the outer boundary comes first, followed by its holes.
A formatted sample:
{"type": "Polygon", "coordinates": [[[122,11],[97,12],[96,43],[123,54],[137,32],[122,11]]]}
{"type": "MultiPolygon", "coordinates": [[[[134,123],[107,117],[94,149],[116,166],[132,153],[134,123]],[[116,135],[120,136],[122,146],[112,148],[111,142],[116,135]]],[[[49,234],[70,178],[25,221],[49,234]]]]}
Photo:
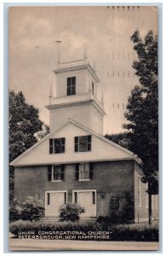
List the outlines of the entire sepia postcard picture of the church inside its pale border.
{"type": "Polygon", "coordinates": [[[157,252],[157,5],[8,18],[9,250],[157,252]]]}

